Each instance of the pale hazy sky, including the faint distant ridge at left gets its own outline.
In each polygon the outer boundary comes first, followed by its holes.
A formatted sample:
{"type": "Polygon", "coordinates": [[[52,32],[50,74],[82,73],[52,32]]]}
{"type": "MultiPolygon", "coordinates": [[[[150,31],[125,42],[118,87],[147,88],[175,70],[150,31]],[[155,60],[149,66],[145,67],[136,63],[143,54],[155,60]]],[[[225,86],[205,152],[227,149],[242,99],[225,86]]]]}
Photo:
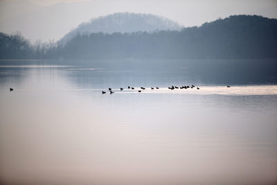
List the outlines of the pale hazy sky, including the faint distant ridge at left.
{"type": "Polygon", "coordinates": [[[0,0],[0,31],[57,40],[83,21],[114,12],[161,15],[187,27],[230,15],[277,18],[277,0],[0,0]]]}

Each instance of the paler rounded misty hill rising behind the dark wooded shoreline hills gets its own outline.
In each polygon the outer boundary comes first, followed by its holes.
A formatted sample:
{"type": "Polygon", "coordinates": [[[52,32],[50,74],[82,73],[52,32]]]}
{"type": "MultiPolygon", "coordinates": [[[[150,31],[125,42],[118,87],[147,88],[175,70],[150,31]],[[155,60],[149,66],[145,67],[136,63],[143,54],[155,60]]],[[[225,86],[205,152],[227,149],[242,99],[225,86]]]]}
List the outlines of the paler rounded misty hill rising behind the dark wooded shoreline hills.
{"type": "Polygon", "coordinates": [[[70,39],[80,34],[90,33],[133,33],[133,32],[154,32],[158,30],[181,30],[177,22],[165,17],[139,14],[129,12],[119,12],[91,19],[89,22],[80,24],[77,28],[64,35],[60,43],[65,44],[70,39]]]}

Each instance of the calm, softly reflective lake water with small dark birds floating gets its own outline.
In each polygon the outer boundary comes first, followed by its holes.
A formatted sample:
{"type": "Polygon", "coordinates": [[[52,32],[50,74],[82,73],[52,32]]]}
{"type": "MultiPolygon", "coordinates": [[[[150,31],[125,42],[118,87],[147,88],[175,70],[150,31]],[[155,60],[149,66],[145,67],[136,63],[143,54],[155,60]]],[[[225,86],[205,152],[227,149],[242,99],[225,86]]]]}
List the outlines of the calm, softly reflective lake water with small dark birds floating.
{"type": "Polygon", "coordinates": [[[0,183],[276,184],[276,61],[222,61],[0,61],[0,183]]]}

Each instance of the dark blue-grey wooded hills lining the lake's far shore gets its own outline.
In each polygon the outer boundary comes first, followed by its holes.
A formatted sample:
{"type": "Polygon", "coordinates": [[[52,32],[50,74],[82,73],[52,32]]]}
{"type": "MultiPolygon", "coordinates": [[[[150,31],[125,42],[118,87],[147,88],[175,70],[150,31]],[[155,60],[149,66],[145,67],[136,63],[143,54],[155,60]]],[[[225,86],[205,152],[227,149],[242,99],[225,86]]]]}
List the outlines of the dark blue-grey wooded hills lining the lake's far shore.
{"type": "Polygon", "coordinates": [[[1,34],[0,58],[277,58],[277,19],[234,15],[181,31],[76,35],[65,45],[1,34]]]}

